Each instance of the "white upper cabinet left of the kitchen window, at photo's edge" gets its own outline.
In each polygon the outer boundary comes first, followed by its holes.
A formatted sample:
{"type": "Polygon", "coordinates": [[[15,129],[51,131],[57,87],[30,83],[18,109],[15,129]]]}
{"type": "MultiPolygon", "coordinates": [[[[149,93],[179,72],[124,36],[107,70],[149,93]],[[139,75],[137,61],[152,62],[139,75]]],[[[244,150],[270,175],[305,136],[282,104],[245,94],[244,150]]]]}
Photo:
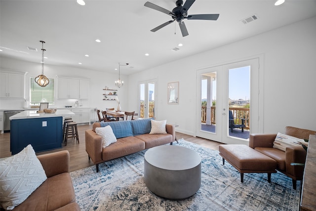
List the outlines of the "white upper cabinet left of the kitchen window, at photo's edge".
{"type": "Polygon", "coordinates": [[[25,72],[0,71],[0,98],[25,98],[25,72]]]}

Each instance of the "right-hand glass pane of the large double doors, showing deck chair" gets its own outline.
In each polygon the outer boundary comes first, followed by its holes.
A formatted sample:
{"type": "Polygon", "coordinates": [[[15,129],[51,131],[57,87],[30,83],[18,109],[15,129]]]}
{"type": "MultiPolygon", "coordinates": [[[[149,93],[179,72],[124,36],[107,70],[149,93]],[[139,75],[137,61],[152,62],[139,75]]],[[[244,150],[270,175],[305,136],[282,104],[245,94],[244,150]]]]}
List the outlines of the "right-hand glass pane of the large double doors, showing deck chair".
{"type": "Polygon", "coordinates": [[[250,66],[229,70],[229,136],[249,138],[250,66]]]}

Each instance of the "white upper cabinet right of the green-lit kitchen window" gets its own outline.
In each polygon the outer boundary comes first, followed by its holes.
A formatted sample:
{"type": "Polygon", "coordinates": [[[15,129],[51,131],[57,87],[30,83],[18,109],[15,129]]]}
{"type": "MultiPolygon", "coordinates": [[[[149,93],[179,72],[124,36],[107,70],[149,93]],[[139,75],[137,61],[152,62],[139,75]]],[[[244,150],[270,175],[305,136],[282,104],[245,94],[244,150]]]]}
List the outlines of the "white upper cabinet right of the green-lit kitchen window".
{"type": "Polygon", "coordinates": [[[89,80],[58,76],[58,99],[88,99],[89,80]]]}

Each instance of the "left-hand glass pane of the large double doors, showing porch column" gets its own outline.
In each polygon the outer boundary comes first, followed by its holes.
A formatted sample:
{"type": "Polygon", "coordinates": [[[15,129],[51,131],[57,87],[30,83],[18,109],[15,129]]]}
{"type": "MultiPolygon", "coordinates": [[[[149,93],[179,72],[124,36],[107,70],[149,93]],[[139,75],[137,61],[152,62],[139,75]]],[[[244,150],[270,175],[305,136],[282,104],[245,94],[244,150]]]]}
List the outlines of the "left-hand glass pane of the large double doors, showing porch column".
{"type": "Polygon", "coordinates": [[[201,130],[216,132],[216,72],[202,74],[201,130]]]}

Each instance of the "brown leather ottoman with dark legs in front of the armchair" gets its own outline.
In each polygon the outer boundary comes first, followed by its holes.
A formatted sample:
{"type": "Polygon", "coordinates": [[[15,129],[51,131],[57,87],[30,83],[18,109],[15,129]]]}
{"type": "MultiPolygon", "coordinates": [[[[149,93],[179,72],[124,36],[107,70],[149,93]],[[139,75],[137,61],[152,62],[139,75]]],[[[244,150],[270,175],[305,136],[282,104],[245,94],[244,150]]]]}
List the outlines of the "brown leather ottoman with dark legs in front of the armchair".
{"type": "Polygon", "coordinates": [[[243,173],[268,173],[268,182],[271,182],[271,173],[276,173],[276,161],[246,145],[226,144],[219,145],[219,154],[240,172],[240,181],[243,182],[243,173]]]}

